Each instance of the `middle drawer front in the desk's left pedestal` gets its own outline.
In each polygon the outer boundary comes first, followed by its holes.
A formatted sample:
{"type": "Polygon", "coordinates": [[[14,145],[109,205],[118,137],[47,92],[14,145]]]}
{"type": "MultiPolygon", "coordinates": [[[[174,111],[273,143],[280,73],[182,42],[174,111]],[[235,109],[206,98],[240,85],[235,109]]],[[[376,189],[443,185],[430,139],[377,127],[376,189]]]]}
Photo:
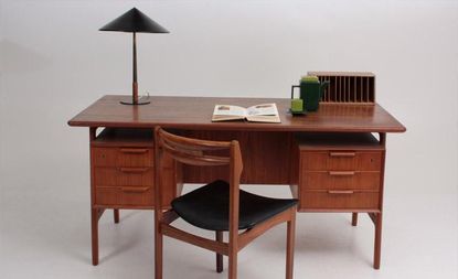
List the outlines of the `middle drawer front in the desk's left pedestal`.
{"type": "Polygon", "coordinates": [[[96,186],[151,186],[153,185],[153,168],[95,168],[96,186]]]}

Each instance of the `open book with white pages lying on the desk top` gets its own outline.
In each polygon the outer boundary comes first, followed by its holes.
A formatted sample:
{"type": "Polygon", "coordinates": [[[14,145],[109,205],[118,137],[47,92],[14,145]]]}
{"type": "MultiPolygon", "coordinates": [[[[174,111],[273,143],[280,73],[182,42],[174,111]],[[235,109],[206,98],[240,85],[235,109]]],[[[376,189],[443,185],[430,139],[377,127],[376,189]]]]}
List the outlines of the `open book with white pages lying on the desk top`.
{"type": "Polygon", "coordinates": [[[213,110],[212,121],[227,121],[246,119],[253,122],[279,124],[280,117],[275,104],[260,104],[249,108],[216,105],[213,110]]]}

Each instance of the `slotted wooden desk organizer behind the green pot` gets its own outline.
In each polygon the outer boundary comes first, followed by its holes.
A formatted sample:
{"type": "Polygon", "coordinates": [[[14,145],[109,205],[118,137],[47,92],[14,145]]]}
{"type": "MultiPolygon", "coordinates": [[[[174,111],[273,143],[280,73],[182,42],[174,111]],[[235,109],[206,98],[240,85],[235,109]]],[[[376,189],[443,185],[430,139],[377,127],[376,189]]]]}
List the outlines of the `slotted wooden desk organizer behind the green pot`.
{"type": "Polygon", "coordinates": [[[369,72],[308,72],[320,82],[329,82],[322,103],[375,104],[375,75],[369,72]]]}

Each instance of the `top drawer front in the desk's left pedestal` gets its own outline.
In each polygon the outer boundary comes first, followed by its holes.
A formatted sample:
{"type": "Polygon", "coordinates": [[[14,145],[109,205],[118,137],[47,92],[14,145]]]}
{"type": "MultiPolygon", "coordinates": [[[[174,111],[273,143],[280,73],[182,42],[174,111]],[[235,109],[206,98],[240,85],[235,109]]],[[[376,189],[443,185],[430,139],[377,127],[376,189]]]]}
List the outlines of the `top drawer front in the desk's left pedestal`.
{"type": "Polygon", "coordinates": [[[95,167],[152,167],[151,148],[93,148],[95,167]]]}

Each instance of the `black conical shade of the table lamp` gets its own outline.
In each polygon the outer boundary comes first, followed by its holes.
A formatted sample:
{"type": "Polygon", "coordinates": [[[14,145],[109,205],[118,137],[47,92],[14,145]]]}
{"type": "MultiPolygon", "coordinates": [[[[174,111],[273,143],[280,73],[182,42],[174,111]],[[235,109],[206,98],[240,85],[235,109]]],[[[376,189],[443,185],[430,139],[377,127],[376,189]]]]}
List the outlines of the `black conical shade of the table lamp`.
{"type": "Polygon", "coordinates": [[[130,9],[123,15],[100,28],[99,31],[169,33],[167,29],[156,23],[137,8],[130,9]]]}

